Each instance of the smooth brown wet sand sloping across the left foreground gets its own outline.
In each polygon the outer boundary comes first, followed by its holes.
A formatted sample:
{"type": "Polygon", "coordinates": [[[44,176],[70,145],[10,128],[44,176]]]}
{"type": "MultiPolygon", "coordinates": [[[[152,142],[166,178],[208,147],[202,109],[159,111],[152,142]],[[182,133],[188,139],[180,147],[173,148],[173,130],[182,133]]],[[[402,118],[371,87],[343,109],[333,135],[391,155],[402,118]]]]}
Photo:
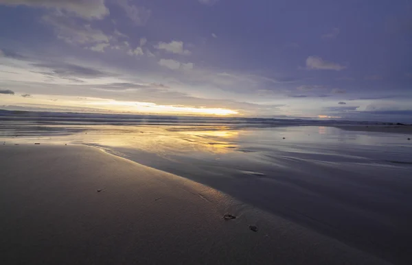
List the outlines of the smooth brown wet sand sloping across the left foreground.
{"type": "Polygon", "coordinates": [[[388,264],[91,147],[5,145],[0,168],[0,264],[388,264]]]}

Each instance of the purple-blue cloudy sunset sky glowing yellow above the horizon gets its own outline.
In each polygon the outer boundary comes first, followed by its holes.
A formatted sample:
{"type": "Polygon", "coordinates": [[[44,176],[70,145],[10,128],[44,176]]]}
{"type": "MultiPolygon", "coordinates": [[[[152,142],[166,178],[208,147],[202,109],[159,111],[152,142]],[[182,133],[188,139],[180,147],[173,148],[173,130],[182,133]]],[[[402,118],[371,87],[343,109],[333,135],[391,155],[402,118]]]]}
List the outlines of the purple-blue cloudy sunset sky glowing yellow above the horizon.
{"type": "Polygon", "coordinates": [[[412,121],[410,0],[0,0],[0,108],[412,121]]]}

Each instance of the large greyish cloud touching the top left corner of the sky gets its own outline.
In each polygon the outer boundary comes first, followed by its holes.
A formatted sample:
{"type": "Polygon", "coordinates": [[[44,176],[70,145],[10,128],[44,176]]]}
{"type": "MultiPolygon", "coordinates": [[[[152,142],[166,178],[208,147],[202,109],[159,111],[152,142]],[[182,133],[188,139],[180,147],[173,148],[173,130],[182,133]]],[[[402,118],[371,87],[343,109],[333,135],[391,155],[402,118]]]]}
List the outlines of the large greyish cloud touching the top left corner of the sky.
{"type": "Polygon", "coordinates": [[[0,0],[0,4],[51,8],[87,19],[101,19],[109,14],[104,0],[0,0]]]}

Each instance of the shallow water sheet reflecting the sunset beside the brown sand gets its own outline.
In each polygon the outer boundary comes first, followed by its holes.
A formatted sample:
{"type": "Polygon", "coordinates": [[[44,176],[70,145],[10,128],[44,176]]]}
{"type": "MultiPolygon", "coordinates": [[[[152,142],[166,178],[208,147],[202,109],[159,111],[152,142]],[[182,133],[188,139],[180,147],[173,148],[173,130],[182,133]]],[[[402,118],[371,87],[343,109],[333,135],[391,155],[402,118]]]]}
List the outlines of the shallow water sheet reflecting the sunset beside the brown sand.
{"type": "MultiPolygon", "coordinates": [[[[412,141],[327,126],[3,122],[5,144],[87,144],[412,264],[412,141]]],[[[249,207],[249,206],[248,206],[249,207]]]]}

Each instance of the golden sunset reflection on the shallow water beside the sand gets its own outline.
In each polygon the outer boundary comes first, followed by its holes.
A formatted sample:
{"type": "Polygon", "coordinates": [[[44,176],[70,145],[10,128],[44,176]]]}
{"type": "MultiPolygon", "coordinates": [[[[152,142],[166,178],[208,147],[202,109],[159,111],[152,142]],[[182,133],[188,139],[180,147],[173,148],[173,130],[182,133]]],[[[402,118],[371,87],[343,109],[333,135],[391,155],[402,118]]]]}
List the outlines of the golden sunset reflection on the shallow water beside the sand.
{"type": "MultiPolygon", "coordinates": [[[[216,127],[214,127],[216,128],[216,127]]],[[[173,131],[166,127],[126,127],[110,125],[100,127],[98,131],[77,134],[80,142],[88,142],[105,147],[121,147],[156,153],[172,159],[174,155],[202,153],[230,153],[238,149],[235,140],[239,131],[224,130],[200,131],[198,127],[190,131],[173,131]]],[[[73,138],[73,136],[71,136],[73,138]]]]}

